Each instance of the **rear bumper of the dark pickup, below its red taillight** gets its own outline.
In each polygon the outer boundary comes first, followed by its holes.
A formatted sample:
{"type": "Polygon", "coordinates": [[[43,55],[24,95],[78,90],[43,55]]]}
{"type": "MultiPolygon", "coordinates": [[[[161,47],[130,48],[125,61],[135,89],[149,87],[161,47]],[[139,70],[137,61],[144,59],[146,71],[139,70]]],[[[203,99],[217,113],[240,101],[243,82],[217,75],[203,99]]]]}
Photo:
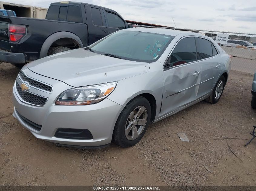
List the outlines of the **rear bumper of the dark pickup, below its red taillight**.
{"type": "Polygon", "coordinates": [[[25,63],[25,55],[23,53],[10,53],[0,49],[0,62],[25,63]]]}

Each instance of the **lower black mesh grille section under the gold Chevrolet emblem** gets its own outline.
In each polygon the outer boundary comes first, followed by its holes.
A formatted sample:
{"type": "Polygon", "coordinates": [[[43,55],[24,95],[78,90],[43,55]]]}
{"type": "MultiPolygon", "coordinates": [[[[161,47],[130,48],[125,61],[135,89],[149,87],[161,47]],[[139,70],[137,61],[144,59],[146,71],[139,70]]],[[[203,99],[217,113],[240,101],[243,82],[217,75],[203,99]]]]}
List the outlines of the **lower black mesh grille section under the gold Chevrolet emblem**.
{"type": "Polygon", "coordinates": [[[16,89],[17,92],[19,94],[19,96],[21,97],[22,100],[37,105],[37,106],[44,106],[45,102],[47,101],[47,98],[45,97],[40,97],[34,94],[30,94],[26,91],[22,91],[20,85],[18,84],[18,82],[16,82],[16,89]]]}

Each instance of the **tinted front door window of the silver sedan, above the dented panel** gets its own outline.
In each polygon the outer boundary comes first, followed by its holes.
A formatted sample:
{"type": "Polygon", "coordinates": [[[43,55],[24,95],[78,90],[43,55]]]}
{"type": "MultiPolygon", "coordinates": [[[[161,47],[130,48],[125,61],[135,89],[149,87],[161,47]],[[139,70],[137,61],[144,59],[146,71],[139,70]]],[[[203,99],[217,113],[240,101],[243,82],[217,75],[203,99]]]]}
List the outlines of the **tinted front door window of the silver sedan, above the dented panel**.
{"type": "Polygon", "coordinates": [[[165,68],[196,61],[196,54],[194,37],[184,38],[175,46],[165,64],[165,68]]]}

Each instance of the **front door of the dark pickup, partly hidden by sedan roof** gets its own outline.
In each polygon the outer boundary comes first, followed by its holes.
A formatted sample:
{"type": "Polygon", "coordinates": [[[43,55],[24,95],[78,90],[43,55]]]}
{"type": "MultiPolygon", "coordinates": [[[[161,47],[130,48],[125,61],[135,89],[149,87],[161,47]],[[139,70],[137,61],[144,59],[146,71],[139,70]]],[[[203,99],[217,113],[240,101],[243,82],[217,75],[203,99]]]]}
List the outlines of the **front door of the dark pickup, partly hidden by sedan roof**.
{"type": "Polygon", "coordinates": [[[125,21],[115,12],[104,10],[108,34],[125,29],[125,21]]]}

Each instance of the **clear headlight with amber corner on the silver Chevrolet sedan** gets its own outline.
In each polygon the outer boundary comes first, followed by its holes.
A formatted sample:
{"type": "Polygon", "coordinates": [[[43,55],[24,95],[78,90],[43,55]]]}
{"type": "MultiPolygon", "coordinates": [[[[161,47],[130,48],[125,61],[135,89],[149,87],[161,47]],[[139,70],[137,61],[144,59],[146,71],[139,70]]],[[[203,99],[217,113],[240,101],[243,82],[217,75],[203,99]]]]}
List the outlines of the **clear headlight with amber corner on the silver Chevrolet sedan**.
{"type": "Polygon", "coordinates": [[[114,89],[117,82],[73,88],[62,92],[56,105],[89,105],[105,99],[114,89]]]}

